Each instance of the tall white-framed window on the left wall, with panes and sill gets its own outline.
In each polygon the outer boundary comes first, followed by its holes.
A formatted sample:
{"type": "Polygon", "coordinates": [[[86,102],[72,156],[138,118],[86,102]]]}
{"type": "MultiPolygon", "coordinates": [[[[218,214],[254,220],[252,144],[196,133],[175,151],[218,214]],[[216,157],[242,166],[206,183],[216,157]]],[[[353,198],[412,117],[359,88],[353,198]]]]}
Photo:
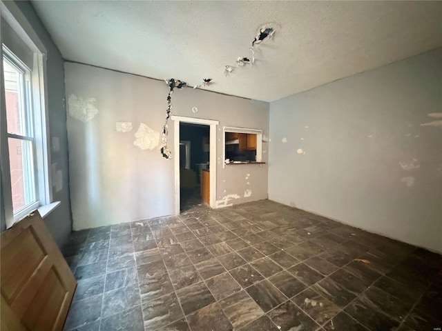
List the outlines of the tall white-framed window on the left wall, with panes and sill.
{"type": "Polygon", "coordinates": [[[49,172],[46,48],[15,3],[0,1],[0,14],[0,208],[10,228],[37,208],[44,217],[59,202],[52,203],[49,172]]]}

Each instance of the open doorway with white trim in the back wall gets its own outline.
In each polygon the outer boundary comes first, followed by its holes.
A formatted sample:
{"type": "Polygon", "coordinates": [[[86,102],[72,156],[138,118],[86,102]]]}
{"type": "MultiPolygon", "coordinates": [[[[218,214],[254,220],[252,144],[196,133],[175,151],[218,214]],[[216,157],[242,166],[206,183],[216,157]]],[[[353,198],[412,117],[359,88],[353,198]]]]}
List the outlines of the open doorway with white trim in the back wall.
{"type": "Polygon", "coordinates": [[[171,119],[175,122],[175,214],[203,203],[215,208],[219,122],[181,116],[171,119]]]}

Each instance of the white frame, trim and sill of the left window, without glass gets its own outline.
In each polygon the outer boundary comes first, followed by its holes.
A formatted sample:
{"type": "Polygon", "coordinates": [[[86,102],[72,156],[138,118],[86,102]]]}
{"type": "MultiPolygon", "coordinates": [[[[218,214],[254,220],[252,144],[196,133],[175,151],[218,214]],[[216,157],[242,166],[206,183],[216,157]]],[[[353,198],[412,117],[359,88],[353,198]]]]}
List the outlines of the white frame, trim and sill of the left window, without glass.
{"type": "MultiPolygon", "coordinates": [[[[38,208],[41,216],[45,217],[52,212],[59,201],[53,202],[52,198],[52,179],[50,173],[50,135],[48,122],[48,89],[46,77],[46,53],[47,50],[41,42],[37,33],[23,15],[21,10],[13,1],[0,1],[1,19],[6,20],[8,25],[17,34],[21,41],[26,44],[30,52],[32,52],[33,66],[30,68],[30,86],[32,95],[32,108],[34,117],[32,125],[34,126],[35,139],[35,181],[37,183],[36,195],[38,203],[32,205],[32,209],[27,208],[26,211],[20,213],[13,213],[12,210],[12,192],[10,185],[10,165],[9,165],[9,150],[8,150],[8,134],[6,126],[6,110],[4,99],[4,84],[3,84],[3,43],[0,43],[1,55],[1,184],[3,193],[4,212],[6,217],[6,227],[10,228],[17,223],[21,218],[26,216],[28,212],[38,208]],[[5,141],[5,143],[3,143],[5,141]],[[28,210],[30,209],[30,210],[28,210]]],[[[8,53],[8,50],[4,52],[8,53]]],[[[13,54],[13,53],[12,53],[13,54]]],[[[6,54],[10,56],[10,54],[6,54]]],[[[9,135],[10,137],[10,135],[9,135]]]]}

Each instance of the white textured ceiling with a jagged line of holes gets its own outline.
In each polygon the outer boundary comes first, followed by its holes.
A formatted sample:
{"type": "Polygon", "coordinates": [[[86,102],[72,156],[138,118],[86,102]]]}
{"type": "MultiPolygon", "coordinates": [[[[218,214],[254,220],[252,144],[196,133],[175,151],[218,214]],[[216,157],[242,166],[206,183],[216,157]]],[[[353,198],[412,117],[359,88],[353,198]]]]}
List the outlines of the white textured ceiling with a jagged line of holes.
{"type": "Polygon", "coordinates": [[[32,1],[67,60],[274,101],[442,46],[441,1],[32,1]],[[280,31],[249,57],[262,23],[280,31]]]}

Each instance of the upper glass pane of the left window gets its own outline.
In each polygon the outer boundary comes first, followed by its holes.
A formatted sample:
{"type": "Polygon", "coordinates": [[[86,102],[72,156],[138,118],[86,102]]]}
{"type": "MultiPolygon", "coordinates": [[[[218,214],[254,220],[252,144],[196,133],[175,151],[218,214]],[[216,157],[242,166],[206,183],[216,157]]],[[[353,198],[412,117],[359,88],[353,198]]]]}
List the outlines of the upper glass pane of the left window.
{"type": "Polygon", "coordinates": [[[3,59],[5,79],[6,119],[8,132],[26,135],[26,116],[23,95],[23,73],[3,59]]]}

